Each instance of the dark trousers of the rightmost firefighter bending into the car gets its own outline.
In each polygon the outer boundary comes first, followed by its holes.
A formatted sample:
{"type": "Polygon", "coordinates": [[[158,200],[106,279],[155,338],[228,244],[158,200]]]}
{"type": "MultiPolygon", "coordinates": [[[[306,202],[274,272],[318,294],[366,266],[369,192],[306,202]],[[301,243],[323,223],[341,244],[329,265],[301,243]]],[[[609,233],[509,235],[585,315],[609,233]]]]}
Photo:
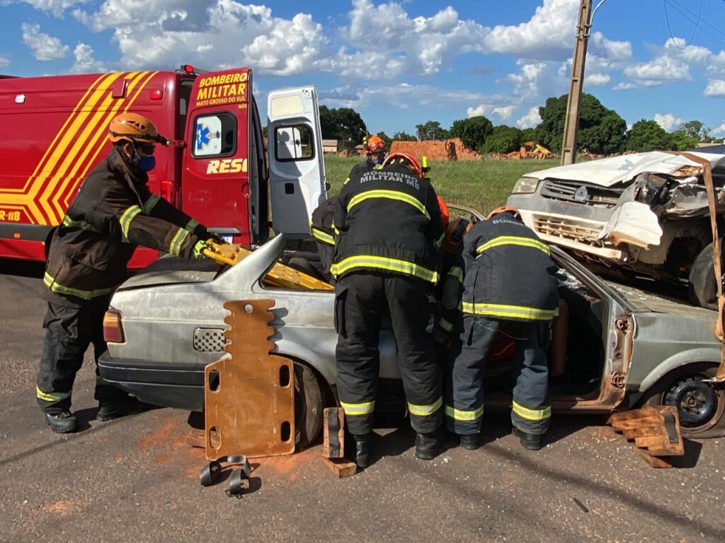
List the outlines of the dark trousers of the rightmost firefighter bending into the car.
{"type": "Polygon", "coordinates": [[[548,348],[550,321],[507,321],[464,314],[461,351],[452,374],[452,397],[446,398],[446,426],[460,435],[481,431],[484,414],[486,358],[502,324],[515,342],[511,365],[513,405],[511,423],[529,434],[549,427],[548,348]]]}

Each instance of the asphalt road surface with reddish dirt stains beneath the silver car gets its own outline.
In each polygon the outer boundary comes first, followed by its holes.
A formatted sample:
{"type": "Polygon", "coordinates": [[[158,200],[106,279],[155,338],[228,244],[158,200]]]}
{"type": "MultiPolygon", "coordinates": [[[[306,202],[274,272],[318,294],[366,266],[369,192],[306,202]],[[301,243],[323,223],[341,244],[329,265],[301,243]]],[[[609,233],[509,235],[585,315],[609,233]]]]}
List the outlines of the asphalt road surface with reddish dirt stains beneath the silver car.
{"type": "Polygon", "coordinates": [[[97,422],[87,358],[73,393],[83,431],[53,434],[35,402],[40,269],[0,272],[2,542],[725,540],[725,439],[688,442],[679,467],[655,470],[598,417],[555,416],[549,445],[526,452],[506,416],[487,415],[481,449],[429,462],[413,456],[405,421],[380,429],[382,458],[347,479],[319,446],[252,460],[236,500],[226,481],[199,485],[187,413],[97,422]]]}

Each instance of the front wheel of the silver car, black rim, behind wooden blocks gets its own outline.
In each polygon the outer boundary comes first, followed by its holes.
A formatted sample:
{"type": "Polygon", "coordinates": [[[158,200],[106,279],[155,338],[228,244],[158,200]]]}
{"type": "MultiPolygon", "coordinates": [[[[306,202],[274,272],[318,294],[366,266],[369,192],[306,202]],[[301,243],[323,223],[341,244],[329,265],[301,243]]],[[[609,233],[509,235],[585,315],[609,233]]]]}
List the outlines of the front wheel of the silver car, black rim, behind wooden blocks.
{"type": "Polygon", "coordinates": [[[704,382],[717,369],[716,363],[696,363],[671,371],[645,393],[639,407],[674,405],[682,437],[725,437],[725,389],[704,382]]]}

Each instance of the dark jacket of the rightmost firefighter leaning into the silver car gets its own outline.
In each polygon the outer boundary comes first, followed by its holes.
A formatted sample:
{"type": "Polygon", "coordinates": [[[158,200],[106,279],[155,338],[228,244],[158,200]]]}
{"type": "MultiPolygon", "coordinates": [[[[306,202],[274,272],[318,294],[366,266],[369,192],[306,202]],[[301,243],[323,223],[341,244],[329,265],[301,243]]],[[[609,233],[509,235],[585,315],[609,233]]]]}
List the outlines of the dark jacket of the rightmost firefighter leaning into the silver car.
{"type": "Polygon", "coordinates": [[[559,295],[549,246],[510,213],[477,222],[463,237],[463,313],[548,321],[559,295]]]}

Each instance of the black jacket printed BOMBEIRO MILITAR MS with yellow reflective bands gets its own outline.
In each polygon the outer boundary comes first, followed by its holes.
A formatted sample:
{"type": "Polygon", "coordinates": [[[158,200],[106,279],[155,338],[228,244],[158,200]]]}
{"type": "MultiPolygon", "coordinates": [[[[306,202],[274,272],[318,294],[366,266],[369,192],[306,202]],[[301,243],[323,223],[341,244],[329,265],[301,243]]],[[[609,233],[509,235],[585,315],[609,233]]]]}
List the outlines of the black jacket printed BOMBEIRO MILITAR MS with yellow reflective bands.
{"type": "Polygon", "coordinates": [[[431,183],[401,164],[355,175],[335,208],[332,273],[383,271],[434,285],[443,224],[431,183]]]}

